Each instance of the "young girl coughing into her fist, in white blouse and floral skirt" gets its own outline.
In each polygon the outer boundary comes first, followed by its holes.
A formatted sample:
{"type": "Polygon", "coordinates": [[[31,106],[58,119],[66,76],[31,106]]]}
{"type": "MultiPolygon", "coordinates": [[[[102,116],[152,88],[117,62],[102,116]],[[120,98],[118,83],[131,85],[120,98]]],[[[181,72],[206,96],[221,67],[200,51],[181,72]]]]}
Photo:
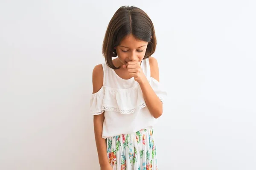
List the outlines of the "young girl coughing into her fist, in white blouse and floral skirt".
{"type": "Polygon", "coordinates": [[[155,48],[148,15],[134,6],[120,7],[105,34],[106,63],[93,69],[90,111],[101,170],[157,170],[152,127],[167,94],[151,57],[155,48]]]}

